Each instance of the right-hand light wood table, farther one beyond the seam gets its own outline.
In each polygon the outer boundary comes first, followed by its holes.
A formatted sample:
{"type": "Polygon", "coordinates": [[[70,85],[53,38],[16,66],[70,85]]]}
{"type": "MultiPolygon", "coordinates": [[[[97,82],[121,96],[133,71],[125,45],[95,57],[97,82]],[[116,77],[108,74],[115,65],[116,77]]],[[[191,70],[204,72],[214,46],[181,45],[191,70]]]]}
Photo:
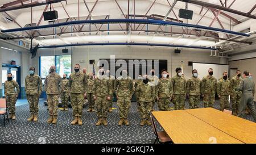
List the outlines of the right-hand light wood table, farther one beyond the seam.
{"type": "Polygon", "coordinates": [[[214,108],[184,110],[243,143],[256,143],[256,123],[214,108]]]}

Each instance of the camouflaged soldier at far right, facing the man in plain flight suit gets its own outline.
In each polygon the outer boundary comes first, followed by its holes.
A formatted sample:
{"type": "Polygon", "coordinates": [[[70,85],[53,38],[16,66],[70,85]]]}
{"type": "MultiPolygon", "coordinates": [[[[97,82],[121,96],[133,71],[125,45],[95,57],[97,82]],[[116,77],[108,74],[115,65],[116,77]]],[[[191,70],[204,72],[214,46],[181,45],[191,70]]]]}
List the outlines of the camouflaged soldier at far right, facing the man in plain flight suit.
{"type": "Polygon", "coordinates": [[[232,102],[232,110],[233,115],[237,116],[238,113],[238,104],[241,102],[241,91],[237,91],[239,84],[242,80],[241,78],[241,71],[237,70],[237,75],[230,79],[231,82],[231,102],[232,102]]]}

